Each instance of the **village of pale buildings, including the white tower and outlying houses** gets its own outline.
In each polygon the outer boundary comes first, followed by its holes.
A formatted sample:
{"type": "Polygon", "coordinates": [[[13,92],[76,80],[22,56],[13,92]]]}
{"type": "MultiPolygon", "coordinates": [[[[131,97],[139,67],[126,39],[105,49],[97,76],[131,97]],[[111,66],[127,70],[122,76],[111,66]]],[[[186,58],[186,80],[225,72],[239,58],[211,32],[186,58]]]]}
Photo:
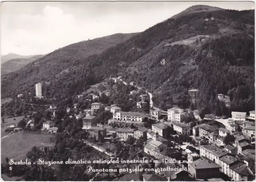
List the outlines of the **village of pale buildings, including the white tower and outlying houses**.
{"type": "MultiPolygon", "coordinates": [[[[255,178],[255,111],[232,112],[231,118],[211,118],[196,110],[178,107],[163,111],[154,107],[152,94],[136,86],[135,82],[126,83],[121,76],[110,78],[110,82],[115,88],[121,84],[133,89],[128,96],[129,101],[136,98],[134,112],[122,111],[118,103],[100,102],[100,98],[116,94],[112,87],[103,92],[90,91],[76,95],[75,104],[66,108],[66,114],[73,110],[76,114],[70,117],[82,119],[82,130],[88,135],[88,139],[82,139],[86,145],[114,159],[116,151],[110,147],[112,141],[118,140],[126,145],[128,140],[142,140],[143,149],[139,153],[159,161],[155,164],[154,172],[143,173],[144,181],[250,181],[255,178]],[[91,103],[88,105],[90,108],[81,109],[80,102],[91,103]],[[106,122],[98,122],[99,110],[108,114],[106,122]],[[165,160],[175,162],[164,162],[165,160]],[[183,170],[160,170],[177,167],[183,170]]],[[[35,88],[36,97],[43,98],[42,84],[36,84],[35,88]]],[[[96,87],[95,89],[97,90],[96,87]]],[[[196,102],[198,89],[189,90],[188,95],[192,103],[196,102]]],[[[22,96],[19,94],[18,98],[22,96]]],[[[218,99],[228,107],[229,96],[220,93],[218,99]]],[[[52,113],[52,118],[58,112],[54,105],[46,111],[52,113]]],[[[12,125],[9,128],[16,130],[16,127],[12,125]]],[[[31,130],[34,127],[34,119],[27,119],[26,128],[31,130]]],[[[14,130],[11,131],[14,133],[14,130]]],[[[56,121],[49,119],[42,123],[40,132],[54,135],[68,131],[60,131],[56,121]]],[[[38,147],[49,153],[56,144],[41,143],[38,147]]]]}

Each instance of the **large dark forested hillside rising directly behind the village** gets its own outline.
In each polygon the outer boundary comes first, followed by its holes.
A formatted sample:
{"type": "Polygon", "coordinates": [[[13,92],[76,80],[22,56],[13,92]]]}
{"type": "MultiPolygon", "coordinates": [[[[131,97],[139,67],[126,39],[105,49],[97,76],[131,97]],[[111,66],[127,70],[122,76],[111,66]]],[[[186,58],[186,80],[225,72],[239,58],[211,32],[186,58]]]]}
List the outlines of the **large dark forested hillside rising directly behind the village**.
{"type": "MultiPolygon", "coordinates": [[[[48,55],[48,62],[54,62],[54,53],[48,55]]],[[[72,59],[72,66],[58,65],[68,71],[55,76],[44,70],[45,75],[30,78],[40,68],[32,67],[40,64],[39,59],[2,79],[2,98],[32,91],[35,82],[48,78],[45,94],[58,102],[104,78],[123,76],[153,92],[154,104],[164,110],[172,105],[188,108],[191,88],[200,90],[196,107],[206,113],[254,110],[254,10],[190,13],[158,23],[86,59],[74,59],[69,52],[63,53],[65,59],[59,55],[63,63],[72,59]],[[216,100],[219,93],[231,97],[229,111],[216,100]]]]}

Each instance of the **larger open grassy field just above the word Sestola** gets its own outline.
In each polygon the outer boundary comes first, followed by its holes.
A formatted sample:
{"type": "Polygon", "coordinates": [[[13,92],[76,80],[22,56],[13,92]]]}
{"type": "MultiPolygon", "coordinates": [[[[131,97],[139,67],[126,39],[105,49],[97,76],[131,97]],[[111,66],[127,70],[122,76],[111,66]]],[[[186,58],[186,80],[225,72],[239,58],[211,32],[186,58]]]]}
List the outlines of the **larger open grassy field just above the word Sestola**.
{"type": "Polygon", "coordinates": [[[40,143],[50,142],[54,135],[18,132],[1,139],[1,162],[5,164],[5,158],[15,160],[26,159],[26,153],[40,143]]]}

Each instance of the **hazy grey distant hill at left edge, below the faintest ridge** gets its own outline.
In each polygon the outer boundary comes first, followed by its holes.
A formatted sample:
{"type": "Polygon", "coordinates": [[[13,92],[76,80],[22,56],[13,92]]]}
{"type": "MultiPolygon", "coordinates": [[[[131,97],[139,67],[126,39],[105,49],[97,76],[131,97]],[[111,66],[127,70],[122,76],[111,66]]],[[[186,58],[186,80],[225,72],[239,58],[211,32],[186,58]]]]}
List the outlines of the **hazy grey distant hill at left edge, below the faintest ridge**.
{"type": "Polygon", "coordinates": [[[20,68],[26,66],[28,63],[31,63],[32,61],[35,61],[36,59],[39,59],[43,56],[44,55],[34,55],[29,58],[16,58],[6,61],[1,64],[1,75],[19,70],[20,68]]]}

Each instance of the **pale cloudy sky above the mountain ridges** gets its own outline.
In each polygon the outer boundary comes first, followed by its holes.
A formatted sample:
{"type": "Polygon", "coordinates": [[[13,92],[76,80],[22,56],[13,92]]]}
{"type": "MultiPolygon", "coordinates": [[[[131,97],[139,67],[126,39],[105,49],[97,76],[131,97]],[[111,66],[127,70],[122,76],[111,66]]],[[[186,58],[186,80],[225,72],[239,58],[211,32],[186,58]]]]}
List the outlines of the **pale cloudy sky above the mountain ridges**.
{"type": "Polygon", "coordinates": [[[2,2],[1,55],[47,54],[79,41],[142,32],[198,4],[254,9],[253,2],[2,2]]]}

